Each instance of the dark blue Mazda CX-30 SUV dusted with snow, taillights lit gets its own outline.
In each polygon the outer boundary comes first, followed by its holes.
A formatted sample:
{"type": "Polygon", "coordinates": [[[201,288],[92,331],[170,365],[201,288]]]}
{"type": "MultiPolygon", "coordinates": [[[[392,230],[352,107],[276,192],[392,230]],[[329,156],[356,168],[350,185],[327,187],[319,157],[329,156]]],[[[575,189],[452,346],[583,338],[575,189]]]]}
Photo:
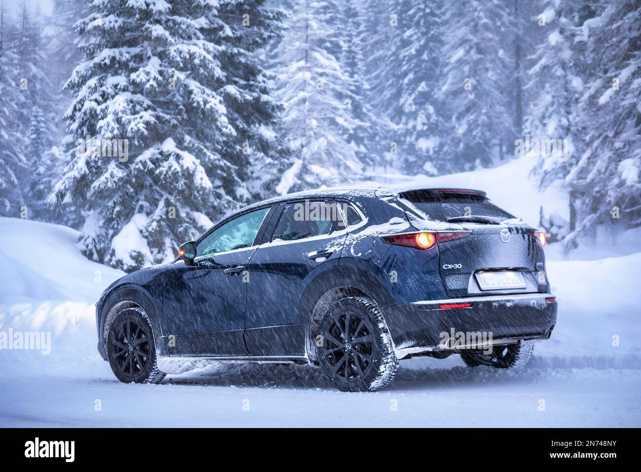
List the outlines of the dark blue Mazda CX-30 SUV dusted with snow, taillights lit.
{"type": "Polygon", "coordinates": [[[124,382],[212,362],[317,365],[377,390],[399,360],[520,367],[556,323],[545,234],[456,188],[344,188],[250,205],[112,284],[98,350],[124,382]]]}

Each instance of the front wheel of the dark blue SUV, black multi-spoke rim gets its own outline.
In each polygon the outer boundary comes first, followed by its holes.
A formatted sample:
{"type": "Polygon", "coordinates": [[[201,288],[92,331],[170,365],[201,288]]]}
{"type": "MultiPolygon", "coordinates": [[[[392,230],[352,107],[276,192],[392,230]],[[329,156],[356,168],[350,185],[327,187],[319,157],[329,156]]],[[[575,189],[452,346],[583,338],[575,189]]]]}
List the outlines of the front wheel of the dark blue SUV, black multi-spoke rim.
{"type": "Polygon", "coordinates": [[[107,358],[113,374],[124,383],[158,383],[165,373],[156,366],[151,323],[142,308],[125,308],[107,335],[107,358]]]}

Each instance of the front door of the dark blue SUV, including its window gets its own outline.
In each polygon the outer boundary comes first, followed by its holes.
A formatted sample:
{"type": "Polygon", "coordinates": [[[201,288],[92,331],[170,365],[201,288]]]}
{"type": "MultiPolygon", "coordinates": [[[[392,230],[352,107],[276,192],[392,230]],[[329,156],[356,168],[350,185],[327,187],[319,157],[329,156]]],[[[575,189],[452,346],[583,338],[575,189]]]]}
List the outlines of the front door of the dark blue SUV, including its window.
{"type": "Polygon", "coordinates": [[[244,270],[269,207],[236,216],[197,241],[194,265],[172,264],[163,300],[167,352],[244,356],[247,283],[244,270]]]}

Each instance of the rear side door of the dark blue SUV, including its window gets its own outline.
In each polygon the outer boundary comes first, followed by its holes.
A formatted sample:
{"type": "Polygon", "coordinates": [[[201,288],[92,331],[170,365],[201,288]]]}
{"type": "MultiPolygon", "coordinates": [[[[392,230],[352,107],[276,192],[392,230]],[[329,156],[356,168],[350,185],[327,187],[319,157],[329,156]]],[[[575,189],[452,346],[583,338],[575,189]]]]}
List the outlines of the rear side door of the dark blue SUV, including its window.
{"type": "Polygon", "coordinates": [[[249,263],[245,342],[256,356],[304,354],[301,298],[310,280],[338,266],[344,218],[335,202],[304,200],[281,204],[271,227],[249,263]]]}

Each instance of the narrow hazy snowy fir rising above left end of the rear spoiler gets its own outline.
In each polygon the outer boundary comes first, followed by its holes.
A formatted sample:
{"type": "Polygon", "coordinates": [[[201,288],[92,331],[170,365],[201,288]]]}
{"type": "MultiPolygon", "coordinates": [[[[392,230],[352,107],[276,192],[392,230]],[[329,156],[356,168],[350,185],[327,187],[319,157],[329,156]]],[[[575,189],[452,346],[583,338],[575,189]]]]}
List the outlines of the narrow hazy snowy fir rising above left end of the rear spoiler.
{"type": "Polygon", "coordinates": [[[437,175],[456,171],[444,154],[445,105],[437,100],[442,51],[442,2],[410,0],[402,21],[406,46],[399,51],[402,80],[398,103],[399,155],[407,173],[437,175]]]}

